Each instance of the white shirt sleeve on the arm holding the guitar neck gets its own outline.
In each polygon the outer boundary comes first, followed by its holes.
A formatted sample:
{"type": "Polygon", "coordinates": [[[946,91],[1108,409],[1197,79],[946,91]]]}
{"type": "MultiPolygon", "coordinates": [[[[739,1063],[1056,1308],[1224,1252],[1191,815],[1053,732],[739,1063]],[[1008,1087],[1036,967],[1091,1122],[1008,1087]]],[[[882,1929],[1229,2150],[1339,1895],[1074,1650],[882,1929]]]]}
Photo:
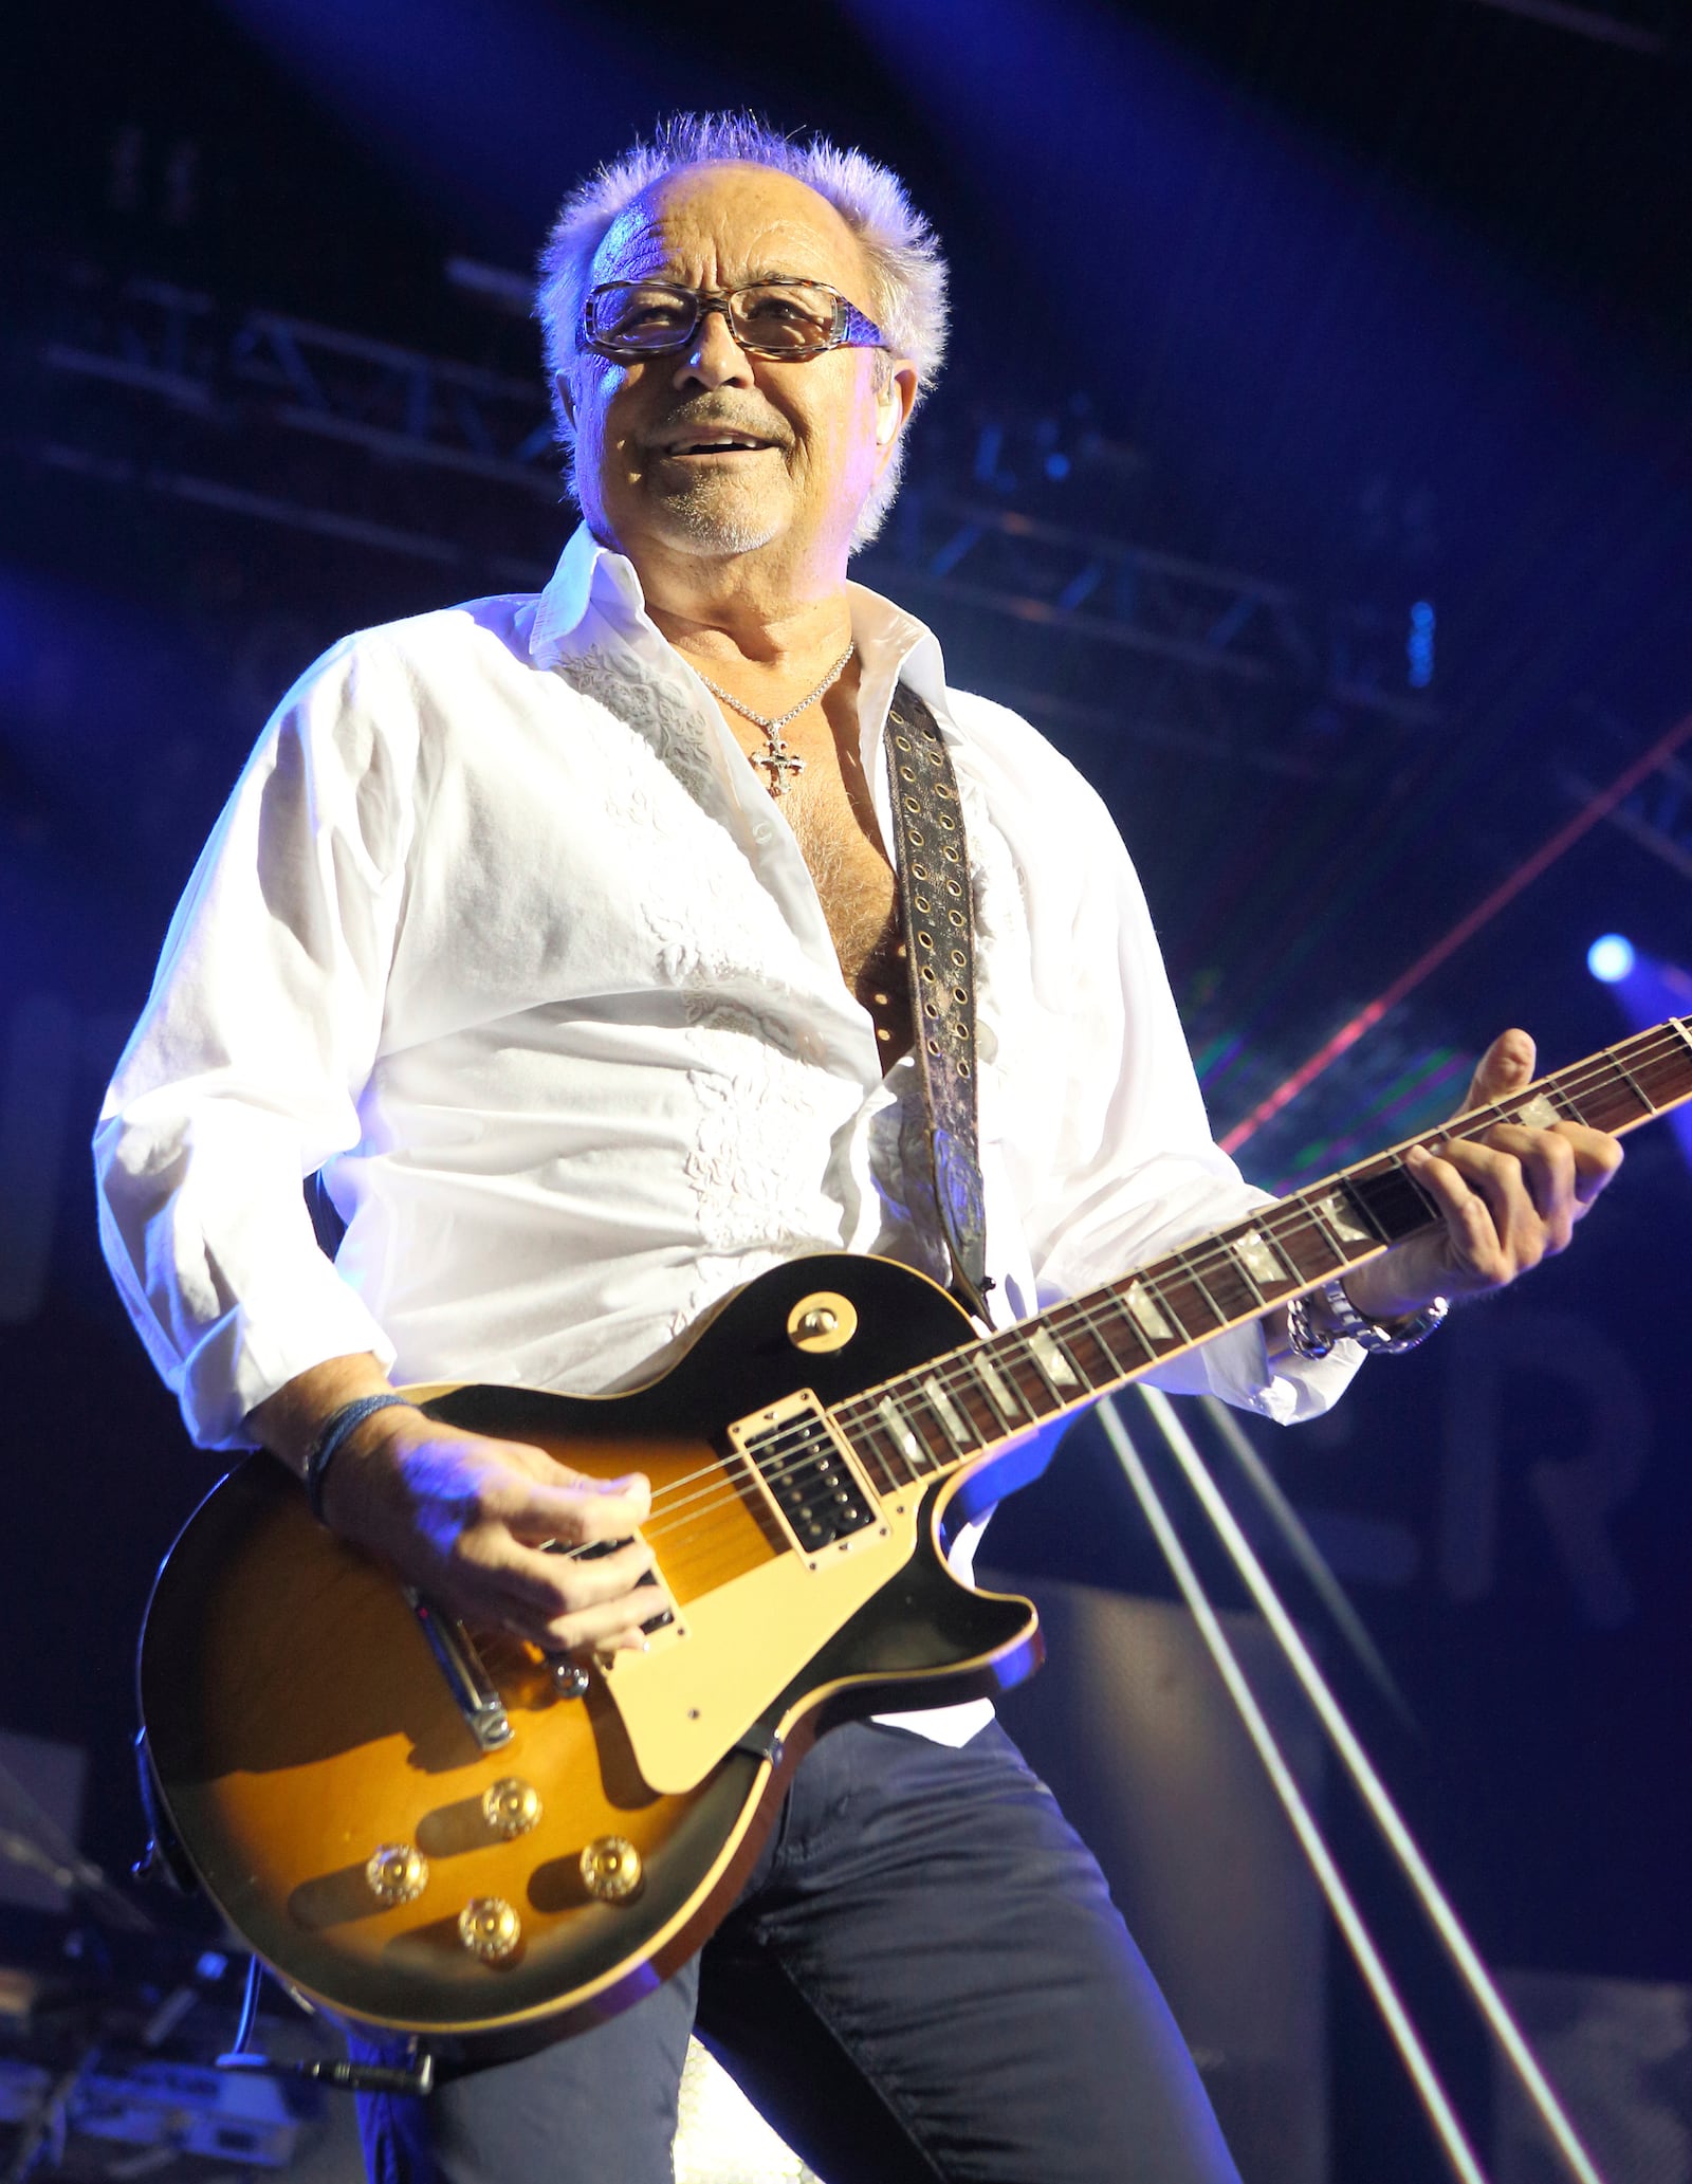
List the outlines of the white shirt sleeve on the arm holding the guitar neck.
{"type": "MultiPolygon", "coordinates": [[[[1065,773],[1070,769],[1065,767],[1065,773]]],[[[1028,1144],[1024,1203],[1041,1299],[1116,1282],[1275,1203],[1212,1140],[1140,880],[1105,806],[1070,773],[1070,856],[1030,889],[1035,992],[1063,1083],[1028,1144]]],[[[1362,1352],[1271,1365],[1253,1321],[1161,1365],[1172,1393],[1220,1396],[1279,1424],[1325,1411],[1362,1352]]]]}

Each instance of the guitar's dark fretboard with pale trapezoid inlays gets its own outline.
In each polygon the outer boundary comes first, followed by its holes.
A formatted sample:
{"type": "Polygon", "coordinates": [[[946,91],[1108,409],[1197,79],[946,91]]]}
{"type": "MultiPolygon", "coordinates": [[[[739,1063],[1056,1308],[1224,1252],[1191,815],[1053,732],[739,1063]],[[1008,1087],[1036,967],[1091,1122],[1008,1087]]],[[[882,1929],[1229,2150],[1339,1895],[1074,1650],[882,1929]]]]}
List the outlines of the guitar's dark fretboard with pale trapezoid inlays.
{"type": "Polygon", "coordinates": [[[1685,1099],[1692,1018],[1670,1018],[1120,1282],[882,1380],[830,1420],[882,1492],[939,1479],[1434,1225],[1434,1201],[1406,1166],[1415,1147],[1480,1138],[1496,1123],[1585,1123],[1620,1136],[1685,1099]]]}

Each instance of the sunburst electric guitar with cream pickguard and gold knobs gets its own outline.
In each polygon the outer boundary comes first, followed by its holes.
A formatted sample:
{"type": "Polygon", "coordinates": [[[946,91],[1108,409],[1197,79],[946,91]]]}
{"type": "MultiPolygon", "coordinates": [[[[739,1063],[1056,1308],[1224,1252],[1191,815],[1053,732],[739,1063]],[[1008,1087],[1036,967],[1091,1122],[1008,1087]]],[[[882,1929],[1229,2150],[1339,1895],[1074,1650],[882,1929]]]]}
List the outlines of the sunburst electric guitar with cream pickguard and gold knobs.
{"type": "MultiPolygon", "coordinates": [[[[1430,1131],[1627,1131],[1692,1094],[1692,1018],[1430,1131]]],[[[1120,1282],[980,1337],[924,1275],[760,1275],[624,1396],[408,1393],[430,1417],[653,1481],[675,1601],[646,1653],[463,1629],[319,1527],[269,1457],[159,1570],[140,1649],[155,1817],[308,2001],[439,2042],[568,2031],[675,1970],[734,1902],[834,1721],[991,1693],[1028,1601],[945,1566],[941,1516],[1035,1428],[1432,1221],[1380,1153],[1120,1282]]]]}

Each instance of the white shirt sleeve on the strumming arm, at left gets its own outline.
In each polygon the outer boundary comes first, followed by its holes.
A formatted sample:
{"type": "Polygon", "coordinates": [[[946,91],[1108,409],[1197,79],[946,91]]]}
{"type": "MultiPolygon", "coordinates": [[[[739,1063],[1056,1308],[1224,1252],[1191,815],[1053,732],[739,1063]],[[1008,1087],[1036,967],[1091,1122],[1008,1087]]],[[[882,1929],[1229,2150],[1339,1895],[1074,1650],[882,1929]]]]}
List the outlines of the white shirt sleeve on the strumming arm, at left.
{"type": "Polygon", "coordinates": [[[301,1182],[360,1140],[413,828],[402,664],[347,640],[288,692],[194,869],[94,1136],[100,1243],[205,1448],[310,1365],[393,1345],[301,1182]]]}

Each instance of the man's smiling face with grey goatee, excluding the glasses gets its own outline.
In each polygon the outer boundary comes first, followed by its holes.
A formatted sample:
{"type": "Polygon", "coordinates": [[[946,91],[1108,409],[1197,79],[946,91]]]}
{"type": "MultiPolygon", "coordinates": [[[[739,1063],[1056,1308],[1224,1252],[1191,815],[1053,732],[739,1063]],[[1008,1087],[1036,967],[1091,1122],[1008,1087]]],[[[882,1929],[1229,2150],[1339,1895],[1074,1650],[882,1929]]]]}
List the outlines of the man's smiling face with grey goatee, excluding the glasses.
{"type": "MultiPolygon", "coordinates": [[[[825,199],[768,168],[712,166],[638,199],[600,245],[589,284],[725,290],[777,273],[827,282],[869,310],[858,240],[825,199]]],[[[779,542],[797,559],[821,553],[843,570],[858,509],[915,391],[908,367],[880,391],[875,380],[871,349],[803,363],[747,356],[716,310],[668,356],[618,363],[581,352],[565,400],[594,535],[635,566],[779,542]],[[736,446],[720,446],[727,435],[736,446]]]]}

